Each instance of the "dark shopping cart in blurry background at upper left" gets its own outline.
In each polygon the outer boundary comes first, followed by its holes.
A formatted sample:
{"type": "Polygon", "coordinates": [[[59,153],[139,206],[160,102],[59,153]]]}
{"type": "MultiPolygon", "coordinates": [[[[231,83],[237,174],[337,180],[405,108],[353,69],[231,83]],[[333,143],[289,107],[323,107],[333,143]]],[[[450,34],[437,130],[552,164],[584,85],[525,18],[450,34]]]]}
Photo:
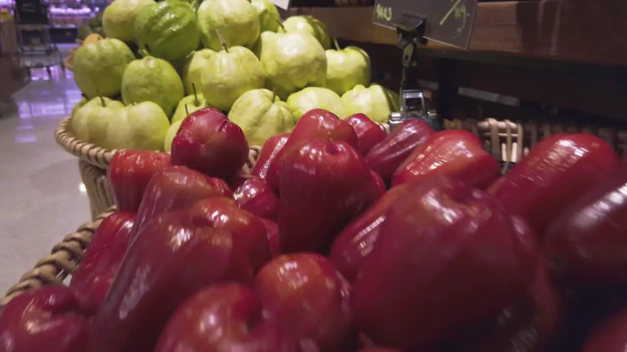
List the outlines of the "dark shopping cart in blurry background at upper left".
{"type": "Polygon", "coordinates": [[[28,69],[46,68],[52,78],[50,68],[63,65],[63,55],[50,36],[49,4],[41,0],[16,0],[15,19],[21,65],[28,69]]]}

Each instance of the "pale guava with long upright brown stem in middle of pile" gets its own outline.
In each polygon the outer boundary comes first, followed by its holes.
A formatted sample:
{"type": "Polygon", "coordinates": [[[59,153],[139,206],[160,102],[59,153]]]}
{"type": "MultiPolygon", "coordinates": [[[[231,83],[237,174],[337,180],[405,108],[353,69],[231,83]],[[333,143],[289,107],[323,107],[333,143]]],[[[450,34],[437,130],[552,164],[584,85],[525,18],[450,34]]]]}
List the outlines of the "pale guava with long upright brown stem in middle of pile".
{"type": "Polygon", "coordinates": [[[252,51],[225,46],[209,58],[201,73],[200,91],[209,105],[228,111],[246,91],[263,88],[264,81],[263,66],[252,51]]]}

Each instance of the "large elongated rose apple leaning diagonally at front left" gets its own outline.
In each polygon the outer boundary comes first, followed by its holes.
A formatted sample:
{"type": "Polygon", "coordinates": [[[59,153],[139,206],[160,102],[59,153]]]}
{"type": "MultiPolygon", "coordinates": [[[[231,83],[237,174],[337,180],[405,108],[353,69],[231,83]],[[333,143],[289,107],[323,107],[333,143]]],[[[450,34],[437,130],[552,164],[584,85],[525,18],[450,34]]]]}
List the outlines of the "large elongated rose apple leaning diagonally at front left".
{"type": "Polygon", "coordinates": [[[246,244],[187,210],[151,219],[128,253],[93,319],[88,351],[152,352],[172,313],[192,294],[253,279],[246,244]]]}

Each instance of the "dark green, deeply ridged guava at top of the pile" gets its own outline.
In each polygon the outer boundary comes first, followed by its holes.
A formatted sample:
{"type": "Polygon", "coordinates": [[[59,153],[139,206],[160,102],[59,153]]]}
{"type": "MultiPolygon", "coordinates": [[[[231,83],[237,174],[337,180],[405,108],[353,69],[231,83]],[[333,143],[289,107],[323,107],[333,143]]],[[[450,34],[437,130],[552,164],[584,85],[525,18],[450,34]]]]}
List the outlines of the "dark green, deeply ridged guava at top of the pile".
{"type": "Polygon", "coordinates": [[[200,43],[196,15],[184,1],[147,6],[135,19],[134,30],[142,51],[167,61],[185,58],[200,43]]]}

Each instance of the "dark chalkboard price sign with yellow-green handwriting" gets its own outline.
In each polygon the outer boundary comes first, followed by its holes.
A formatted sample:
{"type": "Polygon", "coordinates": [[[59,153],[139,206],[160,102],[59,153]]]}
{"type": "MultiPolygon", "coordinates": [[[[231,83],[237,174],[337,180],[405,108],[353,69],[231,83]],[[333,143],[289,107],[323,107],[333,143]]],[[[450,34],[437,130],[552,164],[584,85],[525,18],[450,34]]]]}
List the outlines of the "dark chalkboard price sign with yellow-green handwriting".
{"type": "Polygon", "coordinates": [[[426,17],[424,37],[467,49],[477,0],[377,0],[372,23],[396,29],[403,16],[426,17]]]}

